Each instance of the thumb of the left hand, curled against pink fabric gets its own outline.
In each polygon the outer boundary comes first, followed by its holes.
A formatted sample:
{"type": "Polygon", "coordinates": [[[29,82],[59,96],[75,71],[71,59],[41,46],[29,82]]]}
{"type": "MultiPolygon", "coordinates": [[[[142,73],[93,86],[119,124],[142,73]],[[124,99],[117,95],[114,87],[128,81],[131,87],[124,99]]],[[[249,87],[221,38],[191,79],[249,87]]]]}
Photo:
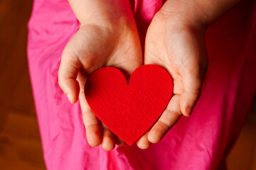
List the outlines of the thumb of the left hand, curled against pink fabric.
{"type": "Polygon", "coordinates": [[[60,68],[58,71],[58,84],[60,88],[64,91],[65,95],[68,96],[70,103],[75,103],[78,101],[79,95],[79,84],[76,81],[78,77],[78,71],[81,64],[75,52],[71,50],[72,48],[67,45],[63,50],[63,55],[61,57],[60,68]]]}

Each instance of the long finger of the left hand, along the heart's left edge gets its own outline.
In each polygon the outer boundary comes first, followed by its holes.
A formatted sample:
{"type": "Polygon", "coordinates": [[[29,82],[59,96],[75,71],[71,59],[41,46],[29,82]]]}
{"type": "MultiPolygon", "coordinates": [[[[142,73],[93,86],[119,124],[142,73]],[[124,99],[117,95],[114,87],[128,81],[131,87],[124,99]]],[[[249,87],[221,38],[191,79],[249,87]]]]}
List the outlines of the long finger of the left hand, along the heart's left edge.
{"type": "Polygon", "coordinates": [[[87,142],[92,147],[97,147],[102,142],[100,121],[97,119],[96,115],[90,109],[86,99],[85,99],[85,81],[86,77],[80,72],[78,74],[78,81],[80,84],[80,94],[79,101],[82,111],[82,119],[85,124],[86,138],[87,142]]]}

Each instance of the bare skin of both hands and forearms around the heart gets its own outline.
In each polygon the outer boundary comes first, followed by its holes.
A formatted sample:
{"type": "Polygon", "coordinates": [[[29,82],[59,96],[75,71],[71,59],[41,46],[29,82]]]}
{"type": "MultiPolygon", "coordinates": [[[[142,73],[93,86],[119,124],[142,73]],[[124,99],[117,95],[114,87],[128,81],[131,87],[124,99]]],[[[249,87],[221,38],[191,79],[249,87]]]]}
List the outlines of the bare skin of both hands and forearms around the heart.
{"type": "Polygon", "coordinates": [[[144,61],[129,0],[70,0],[81,27],[68,42],[59,69],[59,84],[71,103],[80,100],[87,141],[114,149],[124,142],[102,125],[85,100],[87,75],[100,67],[117,67],[126,75],[144,64],[164,67],[174,80],[174,96],[155,125],[137,145],[156,143],[181,118],[191,115],[208,67],[206,27],[240,0],[169,0],[146,33],[144,61]]]}

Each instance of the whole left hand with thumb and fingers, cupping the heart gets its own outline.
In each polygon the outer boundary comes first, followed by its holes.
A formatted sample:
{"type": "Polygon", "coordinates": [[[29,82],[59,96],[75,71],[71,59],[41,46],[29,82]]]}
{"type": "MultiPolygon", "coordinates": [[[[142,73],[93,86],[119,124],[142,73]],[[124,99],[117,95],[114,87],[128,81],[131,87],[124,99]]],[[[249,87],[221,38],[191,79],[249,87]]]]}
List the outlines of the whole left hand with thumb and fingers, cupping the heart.
{"type": "MultiPolygon", "coordinates": [[[[90,2],[91,6],[95,3],[90,2]]],[[[103,1],[102,4],[106,5],[107,2],[103,1]]],[[[87,75],[100,67],[117,67],[128,75],[142,65],[137,26],[131,7],[128,7],[130,11],[124,11],[120,6],[114,9],[112,4],[112,7],[107,8],[112,11],[102,7],[99,13],[93,8],[95,16],[90,13],[90,18],[85,19],[76,13],[81,27],[66,45],[59,69],[59,84],[70,102],[75,103],[79,97],[88,143],[92,147],[102,144],[106,150],[113,149],[115,144],[123,145],[124,142],[97,119],[87,104],[84,87],[87,75]]]]}

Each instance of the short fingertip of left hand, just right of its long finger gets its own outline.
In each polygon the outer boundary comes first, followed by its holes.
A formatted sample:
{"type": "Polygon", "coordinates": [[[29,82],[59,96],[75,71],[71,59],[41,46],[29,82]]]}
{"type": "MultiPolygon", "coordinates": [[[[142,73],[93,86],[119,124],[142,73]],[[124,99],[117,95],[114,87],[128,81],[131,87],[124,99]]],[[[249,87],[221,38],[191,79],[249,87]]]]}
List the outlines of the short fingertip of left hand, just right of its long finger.
{"type": "Polygon", "coordinates": [[[102,148],[110,151],[115,147],[114,133],[102,123],[102,148]]]}

